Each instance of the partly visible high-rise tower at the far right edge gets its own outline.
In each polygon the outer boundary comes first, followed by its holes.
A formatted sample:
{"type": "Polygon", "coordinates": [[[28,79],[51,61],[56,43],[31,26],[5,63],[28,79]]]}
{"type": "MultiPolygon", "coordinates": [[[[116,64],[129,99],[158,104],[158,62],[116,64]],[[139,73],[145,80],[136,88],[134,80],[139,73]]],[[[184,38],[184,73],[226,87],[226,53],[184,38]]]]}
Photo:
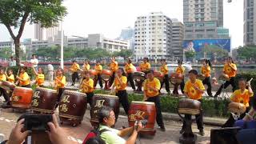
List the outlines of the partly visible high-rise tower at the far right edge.
{"type": "Polygon", "coordinates": [[[244,45],[256,45],[256,2],[244,0],[244,45]]]}

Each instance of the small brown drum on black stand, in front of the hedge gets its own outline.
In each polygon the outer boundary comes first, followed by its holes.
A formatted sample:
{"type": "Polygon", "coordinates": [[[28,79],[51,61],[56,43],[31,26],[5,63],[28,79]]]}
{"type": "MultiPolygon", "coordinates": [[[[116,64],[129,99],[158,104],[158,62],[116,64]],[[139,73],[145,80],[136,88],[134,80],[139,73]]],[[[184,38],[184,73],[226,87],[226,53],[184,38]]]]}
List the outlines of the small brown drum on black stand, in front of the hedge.
{"type": "Polygon", "coordinates": [[[178,113],[179,114],[200,114],[201,102],[194,99],[182,98],[178,102],[178,113]]]}

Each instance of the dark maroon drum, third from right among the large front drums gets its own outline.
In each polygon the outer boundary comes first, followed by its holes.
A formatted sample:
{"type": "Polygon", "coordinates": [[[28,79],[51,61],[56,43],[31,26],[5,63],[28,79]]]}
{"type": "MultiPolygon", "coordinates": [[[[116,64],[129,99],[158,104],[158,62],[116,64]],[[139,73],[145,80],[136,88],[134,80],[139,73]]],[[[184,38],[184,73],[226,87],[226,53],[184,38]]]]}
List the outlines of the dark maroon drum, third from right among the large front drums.
{"type": "Polygon", "coordinates": [[[84,93],[64,90],[58,111],[61,123],[70,122],[72,126],[81,123],[87,108],[87,96],[84,93]]]}

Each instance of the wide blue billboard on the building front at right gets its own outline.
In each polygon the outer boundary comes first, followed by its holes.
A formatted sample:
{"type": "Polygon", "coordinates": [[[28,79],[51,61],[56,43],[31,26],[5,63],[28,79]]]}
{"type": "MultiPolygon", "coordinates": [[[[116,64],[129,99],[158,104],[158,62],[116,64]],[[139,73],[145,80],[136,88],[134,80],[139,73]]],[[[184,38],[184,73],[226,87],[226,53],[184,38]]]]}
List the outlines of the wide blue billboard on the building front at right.
{"type": "Polygon", "coordinates": [[[185,51],[194,50],[195,52],[200,52],[204,48],[220,48],[230,52],[231,42],[230,38],[185,40],[182,47],[185,51]]]}

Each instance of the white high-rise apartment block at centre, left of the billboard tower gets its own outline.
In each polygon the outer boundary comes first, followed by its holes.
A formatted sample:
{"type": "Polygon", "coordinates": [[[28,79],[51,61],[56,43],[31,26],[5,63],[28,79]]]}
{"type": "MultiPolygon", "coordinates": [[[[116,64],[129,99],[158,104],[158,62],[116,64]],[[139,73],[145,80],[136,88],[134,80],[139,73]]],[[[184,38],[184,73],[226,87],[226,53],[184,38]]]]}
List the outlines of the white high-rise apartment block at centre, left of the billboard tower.
{"type": "Polygon", "coordinates": [[[138,17],[134,26],[134,58],[168,57],[172,41],[172,22],[162,12],[138,17]]]}

